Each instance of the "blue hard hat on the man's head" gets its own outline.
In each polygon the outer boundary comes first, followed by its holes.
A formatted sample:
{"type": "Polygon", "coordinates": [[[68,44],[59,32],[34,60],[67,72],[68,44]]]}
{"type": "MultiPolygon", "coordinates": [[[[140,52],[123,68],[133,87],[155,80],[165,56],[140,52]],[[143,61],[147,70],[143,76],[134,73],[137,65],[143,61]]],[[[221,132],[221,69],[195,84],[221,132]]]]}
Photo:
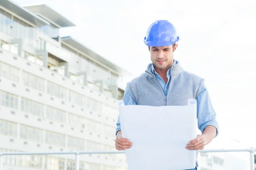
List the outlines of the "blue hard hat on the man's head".
{"type": "Polygon", "coordinates": [[[157,20],[148,27],[144,42],[148,46],[169,46],[179,41],[177,32],[168,20],[157,20]]]}

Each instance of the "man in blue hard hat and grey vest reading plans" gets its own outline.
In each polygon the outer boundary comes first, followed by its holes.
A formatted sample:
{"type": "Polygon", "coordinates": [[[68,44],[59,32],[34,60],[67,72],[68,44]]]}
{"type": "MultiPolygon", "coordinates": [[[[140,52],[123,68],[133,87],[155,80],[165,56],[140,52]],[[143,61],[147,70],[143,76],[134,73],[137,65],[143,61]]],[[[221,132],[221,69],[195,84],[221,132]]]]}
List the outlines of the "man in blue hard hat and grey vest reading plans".
{"type": "MultiPolygon", "coordinates": [[[[173,53],[179,40],[175,27],[167,20],[157,20],[149,26],[144,42],[150,51],[152,63],[145,73],[127,83],[123,101],[125,105],[163,106],[187,105],[188,99],[196,99],[198,128],[202,134],[188,141],[184,147],[202,150],[218,135],[216,113],[204,79],[184,71],[180,62],[174,60],[173,53]]],[[[116,125],[116,149],[131,148],[132,143],[122,138],[119,119],[116,125]]],[[[197,170],[197,167],[198,161],[193,170],[197,170]]]]}

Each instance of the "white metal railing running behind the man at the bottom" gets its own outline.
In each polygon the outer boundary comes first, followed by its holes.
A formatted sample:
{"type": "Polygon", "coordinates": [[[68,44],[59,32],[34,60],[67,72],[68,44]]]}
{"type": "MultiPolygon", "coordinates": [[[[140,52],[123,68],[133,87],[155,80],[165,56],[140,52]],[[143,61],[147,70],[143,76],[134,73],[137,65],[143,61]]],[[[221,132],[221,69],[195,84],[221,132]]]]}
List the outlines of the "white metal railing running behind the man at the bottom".
{"type": "MultiPolygon", "coordinates": [[[[254,153],[256,149],[250,147],[248,149],[230,149],[230,150],[199,150],[200,153],[210,152],[249,152],[250,153],[250,170],[254,170],[254,153]]],[[[19,153],[0,153],[0,170],[3,170],[3,156],[5,155],[75,155],[75,170],[79,170],[79,155],[82,154],[113,154],[125,153],[124,151],[79,151],[73,152],[19,152],[19,153]]]]}

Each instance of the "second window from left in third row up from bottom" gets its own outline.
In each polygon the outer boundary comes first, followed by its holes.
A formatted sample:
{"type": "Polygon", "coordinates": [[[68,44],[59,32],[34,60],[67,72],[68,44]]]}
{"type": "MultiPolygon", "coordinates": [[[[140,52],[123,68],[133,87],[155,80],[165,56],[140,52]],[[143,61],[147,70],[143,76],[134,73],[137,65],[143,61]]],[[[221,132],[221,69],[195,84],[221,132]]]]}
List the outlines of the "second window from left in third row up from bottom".
{"type": "Polygon", "coordinates": [[[44,116],[44,105],[29,99],[21,98],[20,110],[35,116],[44,116]]]}

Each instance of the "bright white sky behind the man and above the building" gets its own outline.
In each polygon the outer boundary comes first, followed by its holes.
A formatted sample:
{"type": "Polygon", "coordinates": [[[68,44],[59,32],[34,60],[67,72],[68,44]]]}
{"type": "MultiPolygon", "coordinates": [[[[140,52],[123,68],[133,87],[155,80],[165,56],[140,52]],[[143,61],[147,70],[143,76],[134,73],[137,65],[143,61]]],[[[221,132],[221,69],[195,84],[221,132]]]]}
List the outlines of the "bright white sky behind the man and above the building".
{"type": "Polygon", "coordinates": [[[61,36],[74,37],[135,76],[151,62],[143,42],[148,26],[169,20],[181,39],[175,59],[206,79],[220,126],[212,145],[236,139],[256,147],[255,0],[14,1],[46,3],[77,25],[62,28],[61,36]]]}

